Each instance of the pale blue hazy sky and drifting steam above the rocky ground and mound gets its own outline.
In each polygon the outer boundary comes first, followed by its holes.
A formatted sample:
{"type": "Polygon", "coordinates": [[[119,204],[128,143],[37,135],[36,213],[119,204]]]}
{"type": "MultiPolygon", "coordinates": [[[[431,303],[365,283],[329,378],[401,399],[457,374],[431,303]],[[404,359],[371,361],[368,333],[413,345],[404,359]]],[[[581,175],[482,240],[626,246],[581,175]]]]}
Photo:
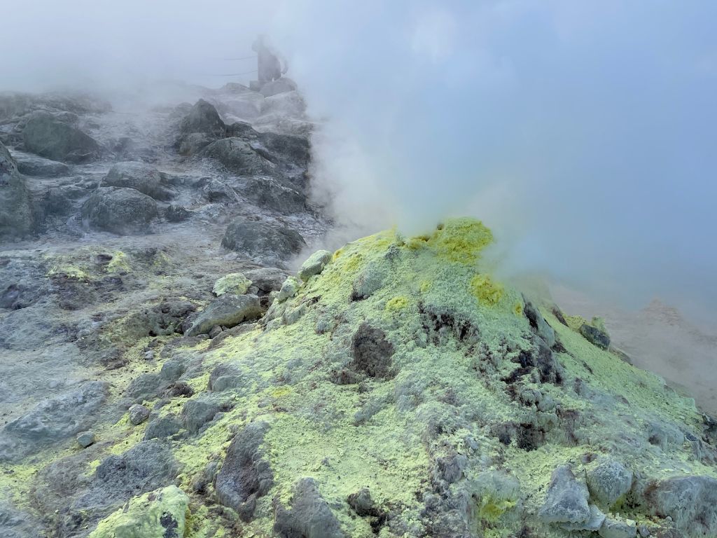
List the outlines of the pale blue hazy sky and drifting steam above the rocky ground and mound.
{"type": "Polygon", "coordinates": [[[68,0],[3,16],[3,89],[221,85],[255,67],[222,59],[268,32],[329,120],[319,155],[343,216],[420,230],[469,212],[506,273],[717,319],[711,0],[68,0]]]}

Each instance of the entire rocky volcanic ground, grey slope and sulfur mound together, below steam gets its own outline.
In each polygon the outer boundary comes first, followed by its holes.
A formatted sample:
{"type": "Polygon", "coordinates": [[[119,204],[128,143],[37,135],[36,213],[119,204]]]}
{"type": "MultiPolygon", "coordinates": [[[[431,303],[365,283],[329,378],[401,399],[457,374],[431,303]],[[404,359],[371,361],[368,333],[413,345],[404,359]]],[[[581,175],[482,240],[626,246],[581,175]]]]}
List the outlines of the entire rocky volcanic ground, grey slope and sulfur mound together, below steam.
{"type": "Polygon", "coordinates": [[[717,422],[480,222],[290,270],[293,88],[0,98],[0,536],[717,535],[717,422]]]}

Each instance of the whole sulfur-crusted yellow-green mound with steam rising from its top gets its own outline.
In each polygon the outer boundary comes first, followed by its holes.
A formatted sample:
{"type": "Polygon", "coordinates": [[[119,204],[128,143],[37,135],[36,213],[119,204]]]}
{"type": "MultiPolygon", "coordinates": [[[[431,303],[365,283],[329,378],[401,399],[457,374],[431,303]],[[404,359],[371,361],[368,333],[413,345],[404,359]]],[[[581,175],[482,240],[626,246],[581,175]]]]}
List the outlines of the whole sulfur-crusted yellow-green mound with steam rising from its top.
{"type": "Polygon", "coordinates": [[[485,272],[492,240],[471,219],[381,232],[311,255],[270,306],[229,275],[156,362],[6,424],[4,517],[91,538],[717,536],[717,424],[599,321],[485,272]],[[209,339],[222,308],[241,314],[209,339]],[[123,405],[88,448],[33,445],[102,398],[123,405]]]}

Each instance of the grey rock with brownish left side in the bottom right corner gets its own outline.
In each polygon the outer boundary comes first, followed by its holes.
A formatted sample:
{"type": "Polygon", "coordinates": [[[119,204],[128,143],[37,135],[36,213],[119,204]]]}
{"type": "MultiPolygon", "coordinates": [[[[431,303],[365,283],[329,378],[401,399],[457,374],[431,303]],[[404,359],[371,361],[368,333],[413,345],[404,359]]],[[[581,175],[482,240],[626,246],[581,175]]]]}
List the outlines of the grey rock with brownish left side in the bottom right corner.
{"type": "Polygon", "coordinates": [[[650,484],[644,504],[652,515],[670,516],[688,536],[717,535],[717,479],[677,476],[650,484]]]}

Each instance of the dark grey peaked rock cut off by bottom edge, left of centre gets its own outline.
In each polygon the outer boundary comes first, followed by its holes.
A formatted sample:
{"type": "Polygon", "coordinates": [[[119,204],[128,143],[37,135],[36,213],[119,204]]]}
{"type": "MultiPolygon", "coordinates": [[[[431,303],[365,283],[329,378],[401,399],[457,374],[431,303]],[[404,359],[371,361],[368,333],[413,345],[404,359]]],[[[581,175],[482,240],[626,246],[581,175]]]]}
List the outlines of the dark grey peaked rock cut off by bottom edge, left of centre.
{"type": "Polygon", "coordinates": [[[291,509],[277,506],[274,532],[282,538],[346,537],[313,478],[296,484],[291,509]]]}

